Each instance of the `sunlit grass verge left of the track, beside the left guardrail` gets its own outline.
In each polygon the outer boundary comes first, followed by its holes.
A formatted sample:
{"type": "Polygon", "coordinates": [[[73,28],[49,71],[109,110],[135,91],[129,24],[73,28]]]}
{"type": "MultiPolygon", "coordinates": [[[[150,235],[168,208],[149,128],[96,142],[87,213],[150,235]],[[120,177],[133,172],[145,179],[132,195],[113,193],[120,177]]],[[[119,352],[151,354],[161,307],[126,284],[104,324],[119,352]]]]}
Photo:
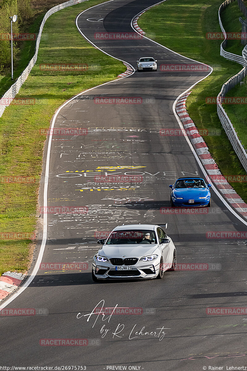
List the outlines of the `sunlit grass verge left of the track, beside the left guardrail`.
{"type": "Polygon", "coordinates": [[[24,272],[30,261],[29,236],[36,228],[39,178],[45,135],[54,111],[81,91],[111,81],[126,70],[120,61],[91,46],[77,30],[77,14],[102,0],[89,0],[53,14],[43,32],[36,65],[17,98],[33,105],[10,105],[0,118],[0,274],[24,272]],[[63,27],[61,27],[61,24],[63,27]],[[86,63],[85,71],[40,70],[41,64],[86,63]],[[33,101],[33,102],[34,102],[33,101]],[[8,183],[8,177],[34,177],[34,183],[8,183]],[[20,234],[6,238],[3,233],[20,234]],[[26,233],[26,234],[25,234],[26,233]],[[24,237],[23,237],[24,236],[24,237]],[[25,238],[27,236],[27,238],[25,238]]]}

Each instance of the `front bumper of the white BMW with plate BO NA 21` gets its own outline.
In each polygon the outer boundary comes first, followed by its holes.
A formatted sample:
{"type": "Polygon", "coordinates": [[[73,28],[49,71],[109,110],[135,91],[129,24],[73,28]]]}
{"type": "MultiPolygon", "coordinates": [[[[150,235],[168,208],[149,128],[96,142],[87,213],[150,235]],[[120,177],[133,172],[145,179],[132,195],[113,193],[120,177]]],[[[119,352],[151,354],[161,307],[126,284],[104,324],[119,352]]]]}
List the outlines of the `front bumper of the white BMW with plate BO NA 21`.
{"type": "Polygon", "coordinates": [[[93,258],[93,272],[95,277],[99,279],[150,279],[158,275],[160,267],[160,257],[150,261],[138,261],[132,265],[131,270],[116,270],[116,265],[111,262],[98,262],[95,257],[93,258]],[[99,274],[100,273],[100,274],[99,274]]]}

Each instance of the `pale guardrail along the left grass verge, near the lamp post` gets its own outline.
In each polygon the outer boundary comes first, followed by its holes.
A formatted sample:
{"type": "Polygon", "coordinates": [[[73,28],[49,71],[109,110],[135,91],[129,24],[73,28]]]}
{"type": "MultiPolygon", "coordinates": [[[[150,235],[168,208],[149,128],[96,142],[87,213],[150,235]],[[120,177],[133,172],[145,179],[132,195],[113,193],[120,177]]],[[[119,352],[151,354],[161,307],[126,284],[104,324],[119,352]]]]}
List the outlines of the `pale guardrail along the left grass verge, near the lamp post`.
{"type": "Polygon", "coordinates": [[[68,6],[71,6],[71,5],[83,3],[84,1],[87,1],[87,0],[70,0],[70,1],[66,1],[66,3],[56,5],[53,8],[49,9],[48,12],[45,14],[45,16],[43,18],[43,21],[42,21],[42,23],[40,25],[39,34],[38,34],[38,37],[37,37],[37,40],[36,40],[36,47],[35,47],[34,56],[30,60],[29,64],[24,69],[24,71],[21,73],[21,75],[19,76],[19,78],[16,80],[16,82],[13,83],[13,85],[11,85],[11,87],[9,88],[9,90],[7,90],[6,93],[2,96],[2,98],[1,98],[1,104],[0,104],[0,117],[3,114],[5,108],[10,105],[11,101],[14,99],[14,97],[16,96],[16,94],[19,92],[19,90],[21,88],[21,85],[23,85],[23,83],[26,81],[27,76],[29,75],[31,69],[33,68],[33,66],[36,63],[37,55],[38,55],[38,50],[39,50],[41,33],[42,33],[42,30],[43,30],[43,27],[44,27],[44,24],[45,24],[47,18],[49,18],[51,14],[56,13],[56,12],[58,12],[61,9],[67,8],[68,6]]]}

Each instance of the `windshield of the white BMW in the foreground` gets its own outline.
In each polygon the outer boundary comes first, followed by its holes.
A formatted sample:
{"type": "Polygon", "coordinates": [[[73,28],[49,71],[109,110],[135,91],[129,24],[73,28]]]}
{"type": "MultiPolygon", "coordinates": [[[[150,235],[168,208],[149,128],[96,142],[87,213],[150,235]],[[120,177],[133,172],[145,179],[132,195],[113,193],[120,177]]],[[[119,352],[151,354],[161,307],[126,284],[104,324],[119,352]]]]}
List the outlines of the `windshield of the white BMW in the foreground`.
{"type": "Polygon", "coordinates": [[[107,239],[107,245],[157,243],[155,232],[150,230],[118,230],[112,232],[107,239]]]}

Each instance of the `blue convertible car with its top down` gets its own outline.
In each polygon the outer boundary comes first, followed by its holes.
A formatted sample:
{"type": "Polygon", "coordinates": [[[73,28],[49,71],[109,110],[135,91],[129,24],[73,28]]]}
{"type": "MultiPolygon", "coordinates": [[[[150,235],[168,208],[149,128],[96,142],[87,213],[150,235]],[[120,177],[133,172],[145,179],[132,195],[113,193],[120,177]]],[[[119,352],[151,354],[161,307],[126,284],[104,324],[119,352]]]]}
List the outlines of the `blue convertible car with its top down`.
{"type": "Polygon", "coordinates": [[[210,187],[202,178],[178,178],[171,188],[171,206],[211,206],[210,187]]]}

